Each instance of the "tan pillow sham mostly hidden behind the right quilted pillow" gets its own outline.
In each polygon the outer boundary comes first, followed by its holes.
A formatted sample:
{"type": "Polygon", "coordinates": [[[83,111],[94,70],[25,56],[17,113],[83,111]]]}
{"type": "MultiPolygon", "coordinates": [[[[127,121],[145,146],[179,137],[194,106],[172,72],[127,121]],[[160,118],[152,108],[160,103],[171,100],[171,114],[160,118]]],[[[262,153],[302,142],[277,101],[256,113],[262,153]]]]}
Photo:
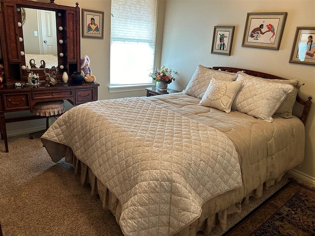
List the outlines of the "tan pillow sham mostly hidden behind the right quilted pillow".
{"type": "MultiPolygon", "coordinates": [[[[241,73],[241,72],[239,72],[241,73]]],[[[244,73],[244,72],[243,72],[244,73]]],[[[246,73],[244,73],[246,74],[246,73]]],[[[247,74],[246,74],[247,75],[247,74]]],[[[296,95],[300,87],[302,86],[302,82],[299,80],[277,80],[277,79],[268,79],[268,78],[261,78],[261,77],[255,77],[251,75],[251,78],[254,79],[261,79],[270,83],[280,83],[280,84],[286,84],[286,85],[292,85],[294,87],[293,91],[288,93],[285,97],[284,101],[281,103],[280,107],[276,111],[274,115],[283,117],[283,118],[292,118],[292,110],[295,103],[296,95]]]]}

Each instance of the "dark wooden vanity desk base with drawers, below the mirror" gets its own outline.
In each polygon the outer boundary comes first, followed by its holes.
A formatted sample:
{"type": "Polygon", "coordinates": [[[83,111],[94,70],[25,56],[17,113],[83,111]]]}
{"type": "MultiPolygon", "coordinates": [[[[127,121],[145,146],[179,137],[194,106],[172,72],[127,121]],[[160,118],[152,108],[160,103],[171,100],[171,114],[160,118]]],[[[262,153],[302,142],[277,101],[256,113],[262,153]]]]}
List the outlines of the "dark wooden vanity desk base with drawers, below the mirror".
{"type": "Polygon", "coordinates": [[[81,85],[57,84],[54,87],[15,88],[13,85],[3,85],[0,88],[0,131],[4,141],[5,151],[8,152],[8,142],[5,124],[8,122],[24,121],[40,116],[20,117],[5,119],[4,113],[31,111],[37,102],[68,100],[72,105],[79,105],[86,102],[97,100],[97,87],[99,84],[83,83],[81,85]]]}

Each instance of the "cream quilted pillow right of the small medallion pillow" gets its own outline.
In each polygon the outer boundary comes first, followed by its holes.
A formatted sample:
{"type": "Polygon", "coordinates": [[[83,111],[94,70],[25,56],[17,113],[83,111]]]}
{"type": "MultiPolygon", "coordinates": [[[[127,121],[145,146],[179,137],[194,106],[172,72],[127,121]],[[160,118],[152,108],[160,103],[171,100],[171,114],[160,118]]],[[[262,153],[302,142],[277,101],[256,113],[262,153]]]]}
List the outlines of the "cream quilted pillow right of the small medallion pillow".
{"type": "Polygon", "coordinates": [[[236,81],[243,81],[232,103],[232,110],[269,122],[287,94],[294,90],[292,85],[272,83],[237,72],[236,81]]]}

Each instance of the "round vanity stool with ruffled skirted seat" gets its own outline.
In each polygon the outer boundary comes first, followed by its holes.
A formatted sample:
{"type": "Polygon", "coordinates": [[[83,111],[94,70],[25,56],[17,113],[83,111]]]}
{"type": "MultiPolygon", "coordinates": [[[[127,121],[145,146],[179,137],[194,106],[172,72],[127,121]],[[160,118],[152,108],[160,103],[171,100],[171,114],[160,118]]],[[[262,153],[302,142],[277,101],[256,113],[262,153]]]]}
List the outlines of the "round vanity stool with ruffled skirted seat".
{"type": "Polygon", "coordinates": [[[33,139],[35,134],[43,134],[49,128],[49,120],[51,117],[59,117],[64,113],[64,102],[59,101],[48,101],[48,102],[37,102],[33,106],[33,114],[36,116],[46,117],[46,129],[37,131],[29,134],[30,139],[33,139]]]}

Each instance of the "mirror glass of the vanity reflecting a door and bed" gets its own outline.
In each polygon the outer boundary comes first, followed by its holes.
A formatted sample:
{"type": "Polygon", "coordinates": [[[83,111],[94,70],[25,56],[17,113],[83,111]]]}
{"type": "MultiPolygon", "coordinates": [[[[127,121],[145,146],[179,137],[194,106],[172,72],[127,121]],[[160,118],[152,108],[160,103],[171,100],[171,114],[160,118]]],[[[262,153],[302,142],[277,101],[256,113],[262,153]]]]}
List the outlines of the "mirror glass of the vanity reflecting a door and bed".
{"type": "Polygon", "coordinates": [[[56,12],[25,8],[23,41],[29,68],[58,67],[56,12]]]}

